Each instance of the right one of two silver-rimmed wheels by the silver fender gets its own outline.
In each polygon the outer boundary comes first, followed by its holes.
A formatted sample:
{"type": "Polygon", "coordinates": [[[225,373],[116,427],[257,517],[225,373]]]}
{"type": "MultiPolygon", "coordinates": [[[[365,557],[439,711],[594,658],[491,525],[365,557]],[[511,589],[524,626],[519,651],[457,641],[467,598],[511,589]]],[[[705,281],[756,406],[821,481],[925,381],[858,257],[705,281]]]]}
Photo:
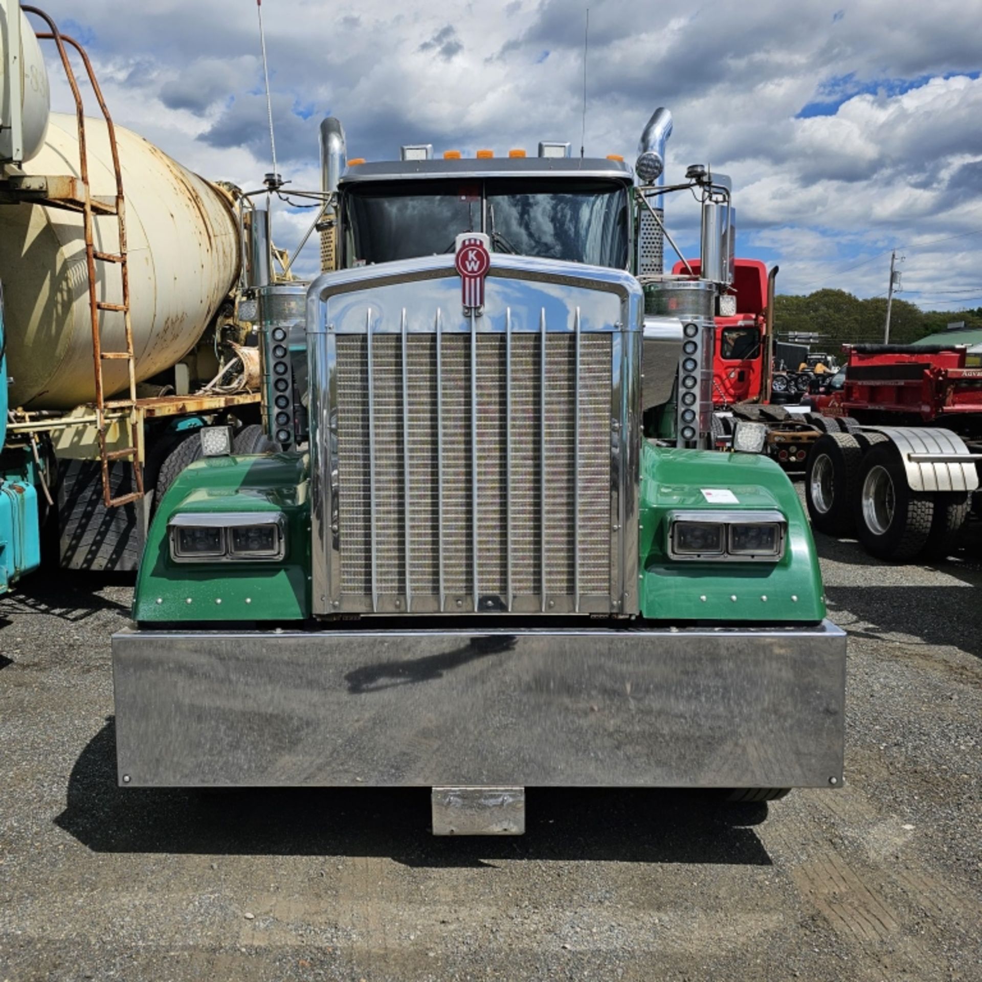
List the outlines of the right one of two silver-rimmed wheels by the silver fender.
{"type": "Polygon", "coordinates": [[[934,501],[910,490],[893,443],[877,444],[863,458],[854,515],[859,541],[878,559],[913,559],[927,545],[934,501]]]}

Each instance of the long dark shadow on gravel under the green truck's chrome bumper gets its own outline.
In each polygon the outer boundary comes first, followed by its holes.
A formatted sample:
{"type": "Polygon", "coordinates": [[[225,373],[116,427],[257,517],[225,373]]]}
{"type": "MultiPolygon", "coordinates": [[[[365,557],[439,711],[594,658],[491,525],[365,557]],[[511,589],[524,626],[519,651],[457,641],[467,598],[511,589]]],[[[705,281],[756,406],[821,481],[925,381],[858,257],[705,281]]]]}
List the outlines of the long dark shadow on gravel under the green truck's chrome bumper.
{"type": "Polygon", "coordinates": [[[55,821],[96,852],[371,855],[419,867],[500,859],[771,864],[750,828],[767,817],[763,802],[544,788],[528,791],[527,807],[523,837],[434,839],[428,789],[121,789],[110,719],[82,751],[55,821]]]}

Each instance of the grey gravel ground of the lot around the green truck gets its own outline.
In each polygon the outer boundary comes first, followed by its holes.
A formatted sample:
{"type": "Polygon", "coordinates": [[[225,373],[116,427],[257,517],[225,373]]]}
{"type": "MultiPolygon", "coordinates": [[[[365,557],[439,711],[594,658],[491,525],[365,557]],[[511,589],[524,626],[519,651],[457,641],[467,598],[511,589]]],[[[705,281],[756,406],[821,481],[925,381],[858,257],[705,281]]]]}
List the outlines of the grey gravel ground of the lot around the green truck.
{"type": "Polygon", "coordinates": [[[0,600],[0,982],[982,979],[982,568],[819,549],[846,788],[531,791],[520,839],[434,840],[416,791],[118,790],[131,586],[29,579],[0,600]]]}

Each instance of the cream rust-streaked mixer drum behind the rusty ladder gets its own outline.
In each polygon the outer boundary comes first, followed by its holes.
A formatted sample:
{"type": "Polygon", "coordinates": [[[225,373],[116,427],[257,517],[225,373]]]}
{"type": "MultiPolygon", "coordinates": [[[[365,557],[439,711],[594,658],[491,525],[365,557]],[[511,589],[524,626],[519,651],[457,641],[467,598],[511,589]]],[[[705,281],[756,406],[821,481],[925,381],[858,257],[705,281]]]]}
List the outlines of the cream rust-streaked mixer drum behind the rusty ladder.
{"type": "MultiPolygon", "coordinates": [[[[91,193],[115,195],[106,127],[86,119],[91,193]]],[[[229,195],[152,143],[116,127],[129,240],[136,380],[194,347],[239,276],[239,225],[229,195]]],[[[28,174],[79,176],[76,119],[51,113],[28,174]]],[[[94,245],[119,250],[115,215],[96,215],[94,245]]],[[[119,303],[119,268],[97,264],[98,299],[119,303]]],[[[10,406],[71,409],[95,398],[82,215],[50,205],[0,206],[10,406]]],[[[104,351],[126,349],[123,315],[102,311],[104,351]]],[[[103,365],[105,394],[127,386],[125,360],[103,365]]]]}

